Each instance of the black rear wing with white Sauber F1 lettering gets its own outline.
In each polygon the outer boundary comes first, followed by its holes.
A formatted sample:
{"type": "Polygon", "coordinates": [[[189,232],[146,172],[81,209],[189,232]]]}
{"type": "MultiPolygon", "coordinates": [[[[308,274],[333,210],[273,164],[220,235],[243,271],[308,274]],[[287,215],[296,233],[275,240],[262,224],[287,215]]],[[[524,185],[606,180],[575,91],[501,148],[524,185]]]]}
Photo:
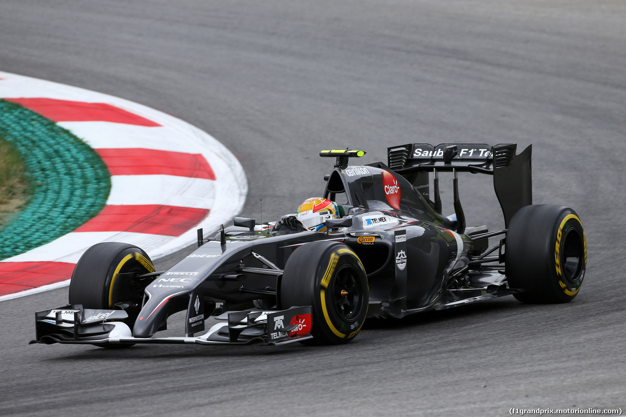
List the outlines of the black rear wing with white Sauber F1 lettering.
{"type": "MultiPolygon", "coordinates": [[[[495,146],[484,143],[409,143],[387,148],[387,165],[413,183],[429,198],[429,172],[434,173],[435,209],[441,211],[437,172],[454,172],[455,209],[458,190],[456,173],[471,172],[493,175],[493,188],[500,202],[505,227],[517,210],[533,203],[531,153],[532,145],[516,155],[515,143],[495,146]]],[[[458,217],[459,213],[457,213],[458,217]]],[[[462,210],[461,210],[462,215],[462,210]]]]}

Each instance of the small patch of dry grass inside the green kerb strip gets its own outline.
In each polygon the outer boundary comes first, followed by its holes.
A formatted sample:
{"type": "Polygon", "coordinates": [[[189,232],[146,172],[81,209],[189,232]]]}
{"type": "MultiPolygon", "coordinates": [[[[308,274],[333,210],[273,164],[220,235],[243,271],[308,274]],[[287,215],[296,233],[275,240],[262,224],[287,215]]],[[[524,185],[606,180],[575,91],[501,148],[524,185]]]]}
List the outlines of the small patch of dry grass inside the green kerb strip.
{"type": "Polygon", "coordinates": [[[28,173],[18,150],[0,136],[0,229],[28,202],[28,173]]]}

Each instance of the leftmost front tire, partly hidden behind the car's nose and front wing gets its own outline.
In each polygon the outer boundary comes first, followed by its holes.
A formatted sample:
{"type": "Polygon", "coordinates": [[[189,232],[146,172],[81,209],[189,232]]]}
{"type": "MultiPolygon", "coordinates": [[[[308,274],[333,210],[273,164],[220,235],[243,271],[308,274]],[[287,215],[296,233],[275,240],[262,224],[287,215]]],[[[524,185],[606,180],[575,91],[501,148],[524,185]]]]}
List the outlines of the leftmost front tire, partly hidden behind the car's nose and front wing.
{"type": "MultiPolygon", "coordinates": [[[[138,282],[133,274],[155,272],[150,257],[131,244],[103,242],[93,245],[81,256],[69,281],[69,304],[86,309],[115,310],[128,313],[125,323],[133,327],[141,310],[143,289],[149,280],[138,282]]],[[[106,345],[128,347],[130,344],[106,345]]]]}

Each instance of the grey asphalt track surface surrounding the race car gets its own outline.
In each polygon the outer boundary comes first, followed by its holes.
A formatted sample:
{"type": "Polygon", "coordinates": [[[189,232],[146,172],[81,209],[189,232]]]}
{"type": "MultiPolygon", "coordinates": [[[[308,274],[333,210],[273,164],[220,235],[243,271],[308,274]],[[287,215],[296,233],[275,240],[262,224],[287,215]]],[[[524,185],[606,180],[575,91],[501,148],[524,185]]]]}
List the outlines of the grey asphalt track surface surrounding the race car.
{"type": "MultiPolygon", "coordinates": [[[[0,415],[625,408],[624,22],[623,1],[2,1],[1,70],[202,128],[244,165],[257,219],[260,198],[269,220],[321,193],[322,148],[533,143],[534,202],[577,210],[588,272],[570,304],[505,297],[322,348],[28,346],[67,289],[4,301],[0,415]]],[[[490,180],[461,185],[468,223],[501,227],[490,180]]]]}

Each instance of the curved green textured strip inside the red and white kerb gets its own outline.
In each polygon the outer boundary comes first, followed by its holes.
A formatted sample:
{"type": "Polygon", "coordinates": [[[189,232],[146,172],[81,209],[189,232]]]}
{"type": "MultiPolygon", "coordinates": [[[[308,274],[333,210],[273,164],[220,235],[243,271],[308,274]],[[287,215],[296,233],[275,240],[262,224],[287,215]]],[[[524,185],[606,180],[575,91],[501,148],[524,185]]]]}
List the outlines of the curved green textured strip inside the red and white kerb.
{"type": "Polygon", "coordinates": [[[106,165],[68,130],[0,100],[0,135],[18,148],[32,182],[28,204],[0,230],[0,259],[47,244],[105,207],[111,190],[106,165]]]}

